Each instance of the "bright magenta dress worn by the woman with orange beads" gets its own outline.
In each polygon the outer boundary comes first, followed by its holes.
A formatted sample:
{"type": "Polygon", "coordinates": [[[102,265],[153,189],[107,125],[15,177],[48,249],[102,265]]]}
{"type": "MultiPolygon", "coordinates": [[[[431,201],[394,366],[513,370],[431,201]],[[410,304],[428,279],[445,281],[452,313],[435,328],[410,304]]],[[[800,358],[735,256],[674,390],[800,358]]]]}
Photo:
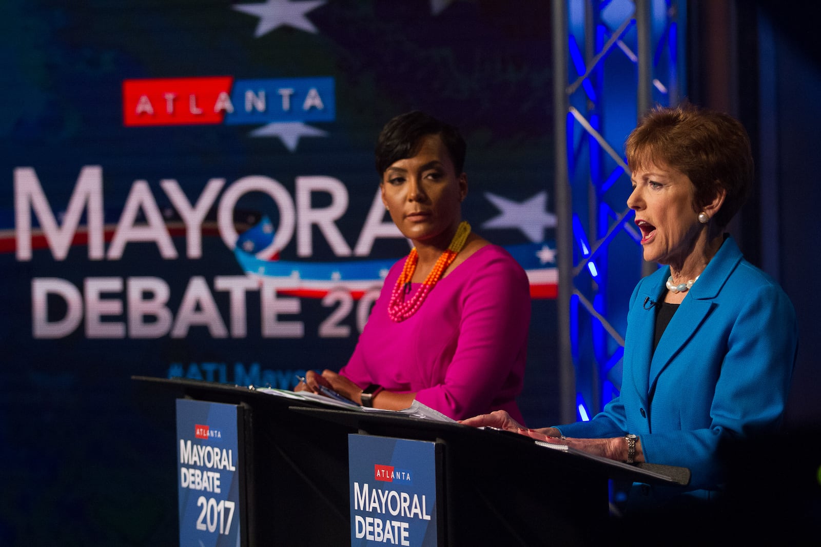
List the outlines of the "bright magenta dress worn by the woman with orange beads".
{"type": "MultiPolygon", "coordinates": [[[[416,400],[457,420],[516,406],[525,374],[530,285],[514,258],[486,245],[439,280],[414,315],[399,323],[388,301],[405,259],[393,265],[351,360],[340,373],[361,388],[416,392],[416,400]]],[[[409,298],[420,284],[413,284],[409,298]]]]}

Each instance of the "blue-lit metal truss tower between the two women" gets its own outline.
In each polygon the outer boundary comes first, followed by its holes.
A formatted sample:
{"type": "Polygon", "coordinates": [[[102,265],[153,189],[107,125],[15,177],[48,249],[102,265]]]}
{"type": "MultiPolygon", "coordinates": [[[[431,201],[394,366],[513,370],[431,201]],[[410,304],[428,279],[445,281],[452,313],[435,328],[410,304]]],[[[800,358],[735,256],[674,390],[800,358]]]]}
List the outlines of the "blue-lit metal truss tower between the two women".
{"type": "Polygon", "coordinates": [[[627,134],[680,102],[684,0],[553,0],[555,194],[562,423],[621,386],[627,303],[641,276],[627,134]]]}

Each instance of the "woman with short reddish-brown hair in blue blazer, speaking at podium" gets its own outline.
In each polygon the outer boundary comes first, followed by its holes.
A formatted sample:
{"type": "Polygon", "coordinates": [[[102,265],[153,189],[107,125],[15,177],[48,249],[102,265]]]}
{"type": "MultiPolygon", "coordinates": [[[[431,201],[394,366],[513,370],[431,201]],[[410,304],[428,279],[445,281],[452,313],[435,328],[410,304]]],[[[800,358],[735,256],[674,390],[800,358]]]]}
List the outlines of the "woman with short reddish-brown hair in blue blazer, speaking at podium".
{"type": "Polygon", "coordinates": [[[753,180],[740,122],[686,105],[656,108],[626,142],[644,260],[627,315],[621,391],[589,422],[538,430],[502,412],[494,426],[627,463],[690,469],[686,487],[634,485],[632,508],[714,499],[722,449],[782,423],[798,345],[787,294],[724,233],[753,180]]]}

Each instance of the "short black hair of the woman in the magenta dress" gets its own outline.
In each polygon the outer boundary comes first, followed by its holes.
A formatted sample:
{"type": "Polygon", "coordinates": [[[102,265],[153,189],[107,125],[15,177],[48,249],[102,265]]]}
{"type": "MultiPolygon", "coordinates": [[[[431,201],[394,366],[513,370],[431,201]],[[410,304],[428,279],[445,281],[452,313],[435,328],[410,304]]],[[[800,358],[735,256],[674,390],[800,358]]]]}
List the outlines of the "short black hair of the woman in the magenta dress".
{"type": "Polygon", "coordinates": [[[379,133],[376,141],[376,171],[381,178],[388,167],[399,160],[413,157],[419,151],[423,137],[437,134],[450,154],[456,175],[465,168],[467,145],[459,130],[418,110],[394,117],[379,133]]]}

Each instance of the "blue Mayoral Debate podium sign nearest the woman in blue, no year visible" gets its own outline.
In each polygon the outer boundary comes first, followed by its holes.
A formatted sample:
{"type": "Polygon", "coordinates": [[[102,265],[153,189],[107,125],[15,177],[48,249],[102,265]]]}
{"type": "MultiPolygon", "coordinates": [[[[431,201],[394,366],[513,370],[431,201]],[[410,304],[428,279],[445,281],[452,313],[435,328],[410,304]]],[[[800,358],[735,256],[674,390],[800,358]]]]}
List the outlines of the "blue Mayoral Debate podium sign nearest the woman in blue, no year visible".
{"type": "Polygon", "coordinates": [[[351,545],[439,545],[441,445],[348,435],[351,545]]]}

